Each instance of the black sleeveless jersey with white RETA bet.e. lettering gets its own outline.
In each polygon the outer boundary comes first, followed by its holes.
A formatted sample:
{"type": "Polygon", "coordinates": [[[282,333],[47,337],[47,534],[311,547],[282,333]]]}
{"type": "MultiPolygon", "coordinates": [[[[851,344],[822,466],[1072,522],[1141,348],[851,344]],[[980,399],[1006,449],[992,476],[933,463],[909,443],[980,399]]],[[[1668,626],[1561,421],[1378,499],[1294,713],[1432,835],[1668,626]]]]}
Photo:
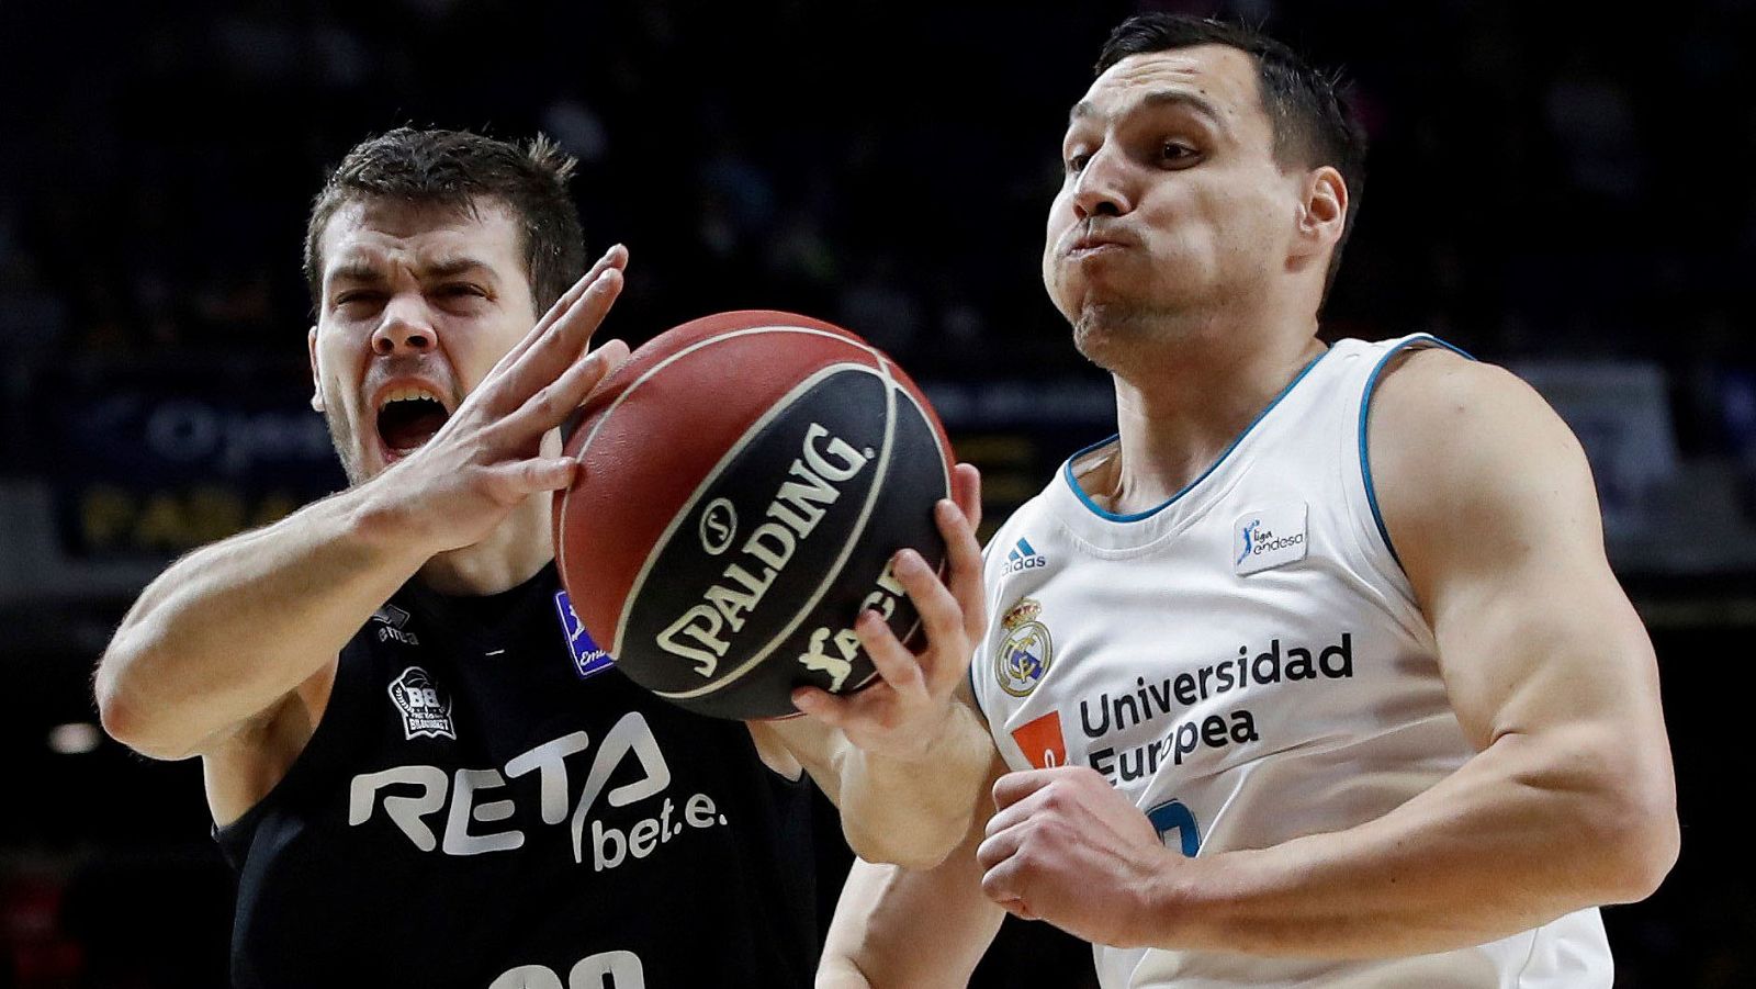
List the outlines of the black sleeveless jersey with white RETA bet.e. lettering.
{"type": "Polygon", "coordinates": [[[232,975],[297,985],[810,985],[808,783],[629,682],[555,567],[409,583],[341,653],[286,778],[218,831],[232,975]],[[585,643],[585,645],[579,645],[585,643]]]}

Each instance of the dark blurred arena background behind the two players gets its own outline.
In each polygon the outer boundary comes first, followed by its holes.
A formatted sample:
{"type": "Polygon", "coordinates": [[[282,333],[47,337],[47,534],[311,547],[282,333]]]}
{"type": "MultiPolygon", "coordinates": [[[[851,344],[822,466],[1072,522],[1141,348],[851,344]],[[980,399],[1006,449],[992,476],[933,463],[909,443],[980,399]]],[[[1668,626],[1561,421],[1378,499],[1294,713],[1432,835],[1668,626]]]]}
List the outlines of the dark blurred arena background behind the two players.
{"type": "MultiPolygon", "coordinates": [[[[592,251],[630,246],[608,332],[846,325],[997,520],[1112,432],[1038,265],[1066,109],[1138,9],[1350,79],[1373,151],[1331,337],[1435,332],[1586,443],[1684,820],[1670,882],[1607,912],[1619,985],[1756,985],[1751,0],[0,0],[0,989],[225,980],[198,766],[104,740],[88,682],[169,559],[341,485],[299,271],[325,167],[404,123],[553,135],[592,251]]],[[[822,857],[827,903],[832,829],[822,857]]],[[[1082,964],[1015,924],[976,984],[1082,964]]]]}

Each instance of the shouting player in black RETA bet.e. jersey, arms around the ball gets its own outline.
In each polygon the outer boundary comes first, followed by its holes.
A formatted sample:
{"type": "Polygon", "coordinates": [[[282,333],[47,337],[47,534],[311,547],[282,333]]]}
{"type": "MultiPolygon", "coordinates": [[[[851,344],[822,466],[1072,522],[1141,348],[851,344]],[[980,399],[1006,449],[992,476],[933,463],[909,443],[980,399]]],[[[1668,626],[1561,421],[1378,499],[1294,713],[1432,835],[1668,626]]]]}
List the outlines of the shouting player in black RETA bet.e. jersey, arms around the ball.
{"type": "Polygon", "coordinates": [[[897,557],[932,648],[866,618],[885,683],[804,701],[841,729],[687,713],[579,631],[557,427],[627,355],[587,344],[629,258],[581,278],[571,169],[457,132],[346,156],[306,265],[313,406],[351,487],[179,560],[97,671],[111,734],[202,757],[241,987],[802,985],[801,764],[862,855],[927,866],[968,827],[990,759],[952,703],[980,634],[971,469],[938,509],[964,603],[897,557]]]}

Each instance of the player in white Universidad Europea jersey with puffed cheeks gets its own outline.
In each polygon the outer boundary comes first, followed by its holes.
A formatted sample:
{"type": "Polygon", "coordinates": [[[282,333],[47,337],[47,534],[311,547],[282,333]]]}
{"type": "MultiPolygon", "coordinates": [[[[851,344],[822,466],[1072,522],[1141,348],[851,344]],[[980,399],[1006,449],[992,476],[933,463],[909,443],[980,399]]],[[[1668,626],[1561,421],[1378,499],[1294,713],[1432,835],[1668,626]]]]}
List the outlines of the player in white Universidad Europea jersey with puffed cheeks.
{"type": "Polygon", "coordinates": [[[1610,985],[1596,905],[1677,855],[1652,650],[1529,388],[1317,341],[1361,158],[1266,37],[1108,40],[1043,279],[1120,434],[989,545],[996,812],[857,866],[820,985],[962,985],[1006,912],[1106,987],[1610,985]]]}

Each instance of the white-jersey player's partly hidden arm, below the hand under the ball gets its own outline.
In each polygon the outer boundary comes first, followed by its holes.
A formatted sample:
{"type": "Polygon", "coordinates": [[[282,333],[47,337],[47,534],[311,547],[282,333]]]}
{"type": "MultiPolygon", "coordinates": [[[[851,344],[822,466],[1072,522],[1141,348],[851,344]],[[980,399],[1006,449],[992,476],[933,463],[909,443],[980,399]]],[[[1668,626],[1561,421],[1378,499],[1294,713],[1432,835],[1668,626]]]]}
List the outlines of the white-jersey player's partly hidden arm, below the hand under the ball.
{"type": "MultiPolygon", "coordinates": [[[[1004,773],[999,757],[989,782],[1004,773]]],[[[992,806],[983,801],[983,806],[992,806]]],[[[976,845],[987,813],[931,870],[853,863],[829,942],[817,968],[818,989],[952,989],[969,984],[1006,912],[982,896],[976,845]]]]}

